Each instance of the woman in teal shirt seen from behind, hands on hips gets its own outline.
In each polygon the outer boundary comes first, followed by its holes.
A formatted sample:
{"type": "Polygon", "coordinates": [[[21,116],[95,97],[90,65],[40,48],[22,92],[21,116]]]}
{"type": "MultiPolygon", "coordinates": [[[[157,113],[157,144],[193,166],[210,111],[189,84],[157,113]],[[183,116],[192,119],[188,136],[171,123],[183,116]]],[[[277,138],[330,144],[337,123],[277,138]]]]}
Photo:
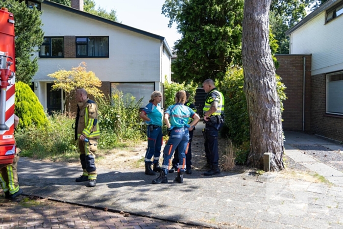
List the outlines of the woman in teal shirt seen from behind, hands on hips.
{"type": "Polygon", "coordinates": [[[168,143],[163,150],[162,171],[158,178],[152,180],[153,184],[168,183],[169,163],[175,149],[179,151],[179,165],[177,169],[177,177],[175,181],[183,183],[183,174],[185,172],[186,156],[189,142],[189,128],[192,130],[197,122],[199,116],[188,106],[185,106],[186,93],[179,91],[175,95],[175,104],[169,106],[164,113],[164,121],[169,129],[168,143]],[[194,120],[188,125],[189,118],[194,120]],[[169,122],[169,118],[171,122],[169,122]]]}

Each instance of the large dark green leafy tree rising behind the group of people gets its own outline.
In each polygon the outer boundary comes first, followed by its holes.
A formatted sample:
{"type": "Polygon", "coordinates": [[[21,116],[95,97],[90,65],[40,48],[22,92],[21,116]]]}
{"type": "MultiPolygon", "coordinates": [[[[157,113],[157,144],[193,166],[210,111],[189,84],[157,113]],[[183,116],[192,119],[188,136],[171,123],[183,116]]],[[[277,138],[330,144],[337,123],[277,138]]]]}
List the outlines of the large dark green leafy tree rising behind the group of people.
{"type": "Polygon", "coordinates": [[[222,78],[241,63],[244,0],[166,0],[162,13],[181,33],[175,42],[173,80],[201,83],[222,78]]]}

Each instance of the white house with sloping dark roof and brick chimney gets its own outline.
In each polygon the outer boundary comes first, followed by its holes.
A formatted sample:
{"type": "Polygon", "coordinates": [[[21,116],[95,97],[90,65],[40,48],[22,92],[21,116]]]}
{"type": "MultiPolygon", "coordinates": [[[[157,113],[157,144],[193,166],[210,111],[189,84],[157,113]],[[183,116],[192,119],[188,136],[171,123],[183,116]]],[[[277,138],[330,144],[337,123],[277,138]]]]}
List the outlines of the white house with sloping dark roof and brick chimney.
{"type": "Polygon", "coordinates": [[[164,37],[84,12],[83,0],[72,0],[73,7],[50,1],[26,3],[43,12],[45,39],[33,85],[48,111],[63,109],[63,93],[51,91],[53,79],[48,75],[82,61],[102,81],[104,94],[116,87],[144,97],[144,104],[151,92],[162,91],[165,76],[171,80],[172,51],[164,37]]]}

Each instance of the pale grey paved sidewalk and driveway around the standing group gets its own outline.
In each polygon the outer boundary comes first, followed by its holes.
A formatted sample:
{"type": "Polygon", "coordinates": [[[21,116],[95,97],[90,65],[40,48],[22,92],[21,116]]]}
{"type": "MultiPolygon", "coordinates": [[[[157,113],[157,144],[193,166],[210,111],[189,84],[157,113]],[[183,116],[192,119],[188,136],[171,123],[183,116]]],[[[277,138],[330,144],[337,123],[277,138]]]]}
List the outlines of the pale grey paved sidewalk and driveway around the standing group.
{"type": "MultiPolygon", "coordinates": [[[[329,172],[324,175],[334,175],[333,183],[339,180],[340,171],[320,167],[325,164],[294,148],[330,143],[294,132],[286,132],[286,140],[288,156],[319,174],[329,172]]],[[[74,182],[80,175],[79,167],[26,158],[21,158],[18,167],[25,194],[52,200],[213,228],[343,228],[343,188],[339,181],[338,185],[326,185],[299,180],[296,174],[282,178],[276,173],[256,176],[249,172],[209,178],[201,174],[203,171],[193,171],[185,175],[183,184],[173,182],[174,173],[169,175],[168,184],[153,185],[155,177],[144,175],[143,170],[98,168],[97,186],[87,188],[87,182],[74,182]]]]}

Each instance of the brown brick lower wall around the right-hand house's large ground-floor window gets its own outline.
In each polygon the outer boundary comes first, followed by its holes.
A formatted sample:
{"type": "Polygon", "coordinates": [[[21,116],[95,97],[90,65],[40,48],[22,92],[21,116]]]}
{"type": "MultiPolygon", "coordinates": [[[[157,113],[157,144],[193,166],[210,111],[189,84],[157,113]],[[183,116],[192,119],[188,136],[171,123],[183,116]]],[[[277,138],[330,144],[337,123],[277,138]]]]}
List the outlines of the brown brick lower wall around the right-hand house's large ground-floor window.
{"type": "Polygon", "coordinates": [[[343,118],[326,115],[326,75],[312,76],[311,130],[321,136],[343,141],[343,118]]]}

